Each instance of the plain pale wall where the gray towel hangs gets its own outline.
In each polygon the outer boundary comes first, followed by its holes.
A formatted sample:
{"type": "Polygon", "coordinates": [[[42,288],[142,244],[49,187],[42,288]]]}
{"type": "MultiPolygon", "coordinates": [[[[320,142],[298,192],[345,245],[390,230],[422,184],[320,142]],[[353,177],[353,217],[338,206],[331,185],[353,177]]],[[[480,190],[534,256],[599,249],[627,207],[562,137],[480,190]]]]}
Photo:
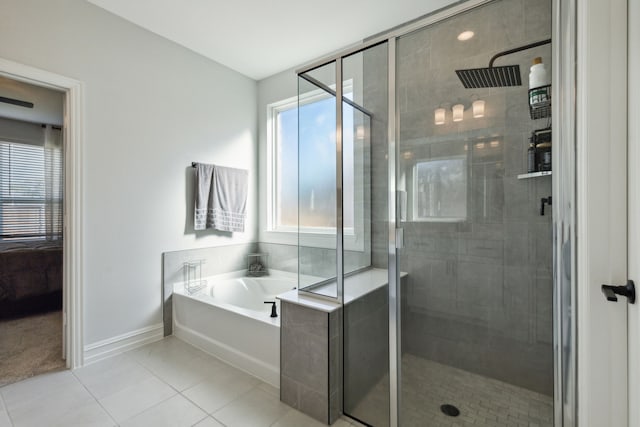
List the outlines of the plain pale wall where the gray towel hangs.
{"type": "Polygon", "coordinates": [[[85,83],[85,345],[161,322],[161,253],[254,241],[256,82],[83,0],[0,0],[0,57],[85,83]],[[249,169],[248,224],[192,231],[192,161],[249,169]]]}

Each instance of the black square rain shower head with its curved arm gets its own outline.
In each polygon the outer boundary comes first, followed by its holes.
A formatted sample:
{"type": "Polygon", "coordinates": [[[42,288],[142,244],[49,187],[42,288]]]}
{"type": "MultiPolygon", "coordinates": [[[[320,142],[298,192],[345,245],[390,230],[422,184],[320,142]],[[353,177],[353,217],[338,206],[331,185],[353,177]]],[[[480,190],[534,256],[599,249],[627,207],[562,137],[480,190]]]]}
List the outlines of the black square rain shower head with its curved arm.
{"type": "Polygon", "coordinates": [[[497,53],[489,61],[487,68],[471,68],[468,70],[456,70],[458,78],[466,89],[476,89],[485,87],[507,87],[522,85],[520,77],[519,65],[506,65],[502,67],[494,67],[493,62],[505,55],[531,49],[543,44],[551,43],[551,39],[531,43],[525,46],[516,47],[497,53]]]}

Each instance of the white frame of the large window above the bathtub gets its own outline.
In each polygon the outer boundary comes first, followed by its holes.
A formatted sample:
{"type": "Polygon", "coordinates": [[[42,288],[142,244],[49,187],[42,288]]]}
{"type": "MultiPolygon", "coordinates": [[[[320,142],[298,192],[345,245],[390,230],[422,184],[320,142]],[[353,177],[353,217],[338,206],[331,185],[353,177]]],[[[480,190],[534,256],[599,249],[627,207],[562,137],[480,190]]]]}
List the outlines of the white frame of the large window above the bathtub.
{"type": "MultiPolygon", "coordinates": [[[[348,93],[353,90],[352,82],[345,82],[345,92],[348,93]]],[[[302,104],[312,103],[325,99],[328,97],[327,93],[318,89],[305,93],[300,96],[300,102],[302,104]]],[[[337,231],[334,227],[304,227],[298,228],[297,226],[278,226],[278,208],[279,203],[277,200],[278,191],[276,186],[278,185],[278,146],[277,146],[277,126],[276,120],[278,113],[281,111],[298,108],[298,96],[287,98],[278,102],[267,105],[267,203],[266,203],[266,230],[265,237],[267,241],[273,243],[283,243],[297,245],[300,241],[304,242],[305,246],[329,248],[335,249],[337,231]]],[[[357,144],[354,136],[354,146],[357,144]]],[[[360,153],[364,156],[364,153],[360,153]]],[[[355,157],[358,156],[356,152],[355,157]]],[[[361,161],[360,164],[363,164],[361,161]]],[[[344,248],[352,251],[363,251],[365,248],[365,224],[364,224],[364,194],[363,194],[363,182],[364,182],[364,168],[359,168],[354,171],[354,227],[344,228],[344,248]],[[357,203],[357,200],[363,202],[357,203]]]]}

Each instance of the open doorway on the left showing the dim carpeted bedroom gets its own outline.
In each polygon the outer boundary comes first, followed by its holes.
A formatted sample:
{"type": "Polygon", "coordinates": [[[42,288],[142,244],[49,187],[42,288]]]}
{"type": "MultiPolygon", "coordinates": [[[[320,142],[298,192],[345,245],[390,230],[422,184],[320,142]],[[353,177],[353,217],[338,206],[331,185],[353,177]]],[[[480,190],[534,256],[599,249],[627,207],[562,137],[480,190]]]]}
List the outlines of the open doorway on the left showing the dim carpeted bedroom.
{"type": "Polygon", "coordinates": [[[0,386],[63,369],[64,93],[0,77],[0,386]]]}

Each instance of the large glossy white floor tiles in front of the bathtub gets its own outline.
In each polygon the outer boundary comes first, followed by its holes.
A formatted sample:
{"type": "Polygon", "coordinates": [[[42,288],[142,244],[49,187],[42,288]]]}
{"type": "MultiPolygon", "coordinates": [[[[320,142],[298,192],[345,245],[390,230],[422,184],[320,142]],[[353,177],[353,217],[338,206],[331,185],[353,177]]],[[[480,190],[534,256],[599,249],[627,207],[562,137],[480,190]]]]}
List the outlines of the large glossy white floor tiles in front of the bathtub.
{"type": "Polygon", "coordinates": [[[281,403],[278,389],[174,337],[0,388],[0,427],[323,425],[281,403]]]}

